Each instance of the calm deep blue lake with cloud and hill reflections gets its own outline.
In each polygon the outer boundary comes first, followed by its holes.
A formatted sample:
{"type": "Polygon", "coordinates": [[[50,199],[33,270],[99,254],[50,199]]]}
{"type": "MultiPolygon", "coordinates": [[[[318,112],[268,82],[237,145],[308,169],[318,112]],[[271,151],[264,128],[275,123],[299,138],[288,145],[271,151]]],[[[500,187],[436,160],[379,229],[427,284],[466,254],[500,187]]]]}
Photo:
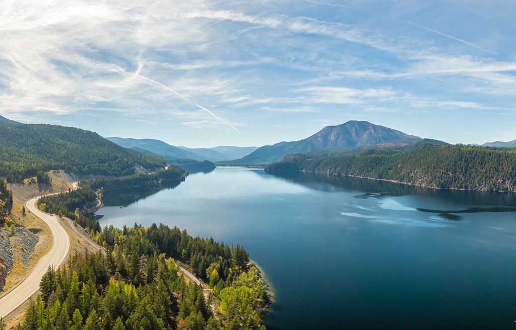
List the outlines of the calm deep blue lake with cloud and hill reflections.
{"type": "Polygon", "coordinates": [[[269,329],[515,329],[516,212],[495,212],[515,204],[219,167],[98,214],[103,227],[163,222],[243,244],[275,292],[269,329]]]}

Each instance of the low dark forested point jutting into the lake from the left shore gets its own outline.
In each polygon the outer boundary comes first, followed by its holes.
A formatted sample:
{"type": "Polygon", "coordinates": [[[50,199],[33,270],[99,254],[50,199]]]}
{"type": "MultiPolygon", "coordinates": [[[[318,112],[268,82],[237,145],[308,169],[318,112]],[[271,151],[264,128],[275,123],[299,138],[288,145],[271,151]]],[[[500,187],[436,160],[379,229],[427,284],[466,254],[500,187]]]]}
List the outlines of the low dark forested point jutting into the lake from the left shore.
{"type": "Polygon", "coordinates": [[[124,177],[102,177],[81,181],[80,185],[88,185],[93,190],[103,188],[104,192],[115,189],[135,187],[162,187],[184,181],[187,172],[175,165],[169,165],[167,169],[149,174],[134,174],[124,177]]]}

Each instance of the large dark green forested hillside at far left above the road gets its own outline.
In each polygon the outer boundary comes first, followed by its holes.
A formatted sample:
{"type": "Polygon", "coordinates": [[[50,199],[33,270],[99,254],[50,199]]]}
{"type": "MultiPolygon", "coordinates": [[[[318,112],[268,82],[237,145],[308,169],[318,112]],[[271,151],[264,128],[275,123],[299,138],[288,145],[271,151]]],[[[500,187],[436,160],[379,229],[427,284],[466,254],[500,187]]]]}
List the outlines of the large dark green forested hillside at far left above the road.
{"type": "Polygon", "coordinates": [[[122,148],[94,132],[0,120],[0,176],[8,182],[22,182],[38,171],[51,169],[78,175],[127,176],[135,172],[136,164],[154,170],[166,162],[150,153],[122,148]]]}

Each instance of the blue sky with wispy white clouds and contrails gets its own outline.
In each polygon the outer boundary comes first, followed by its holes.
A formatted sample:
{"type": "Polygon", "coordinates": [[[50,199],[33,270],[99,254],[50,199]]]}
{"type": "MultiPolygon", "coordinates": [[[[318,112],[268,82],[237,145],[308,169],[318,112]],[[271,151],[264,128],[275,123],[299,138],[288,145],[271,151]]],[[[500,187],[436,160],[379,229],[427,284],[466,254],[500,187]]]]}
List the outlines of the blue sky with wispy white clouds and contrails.
{"type": "Polygon", "coordinates": [[[0,114],[262,146],[367,120],[516,139],[516,3],[2,0],[0,114]]]}

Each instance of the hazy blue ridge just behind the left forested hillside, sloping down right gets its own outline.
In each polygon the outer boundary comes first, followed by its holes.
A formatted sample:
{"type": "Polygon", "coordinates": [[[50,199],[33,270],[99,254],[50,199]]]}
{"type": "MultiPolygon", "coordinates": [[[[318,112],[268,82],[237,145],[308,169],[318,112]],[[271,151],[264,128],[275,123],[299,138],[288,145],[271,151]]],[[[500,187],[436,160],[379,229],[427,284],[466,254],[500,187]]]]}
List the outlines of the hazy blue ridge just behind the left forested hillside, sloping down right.
{"type": "Polygon", "coordinates": [[[195,152],[190,152],[175,146],[171,146],[168,143],[165,143],[160,140],[154,140],[152,138],[143,138],[139,140],[136,138],[107,137],[107,140],[114,142],[124,148],[138,148],[140,150],[148,150],[152,153],[162,156],[165,159],[181,158],[191,159],[195,161],[205,160],[204,157],[195,152]]]}

